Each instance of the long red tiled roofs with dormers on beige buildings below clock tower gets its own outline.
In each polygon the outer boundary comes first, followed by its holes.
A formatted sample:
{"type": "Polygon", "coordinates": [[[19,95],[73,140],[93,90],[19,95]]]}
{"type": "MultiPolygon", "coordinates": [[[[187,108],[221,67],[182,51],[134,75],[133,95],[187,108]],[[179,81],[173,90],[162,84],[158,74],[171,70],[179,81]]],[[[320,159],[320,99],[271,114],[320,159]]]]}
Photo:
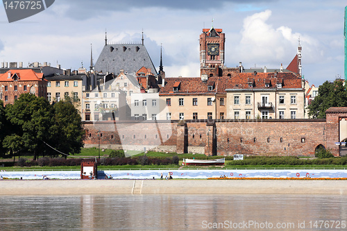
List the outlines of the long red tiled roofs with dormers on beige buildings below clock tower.
{"type": "Polygon", "coordinates": [[[301,78],[291,72],[239,73],[232,77],[210,77],[205,83],[198,77],[165,78],[165,87],[161,87],[160,94],[226,94],[226,89],[276,89],[276,83],[282,83],[282,89],[302,89],[301,78]],[[249,86],[251,79],[253,85],[249,86]],[[180,82],[180,89],[171,93],[177,82],[180,82]],[[208,91],[211,82],[215,83],[215,87],[213,91],[208,91]],[[266,87],[265,83],[272,85],[266,87]]]}

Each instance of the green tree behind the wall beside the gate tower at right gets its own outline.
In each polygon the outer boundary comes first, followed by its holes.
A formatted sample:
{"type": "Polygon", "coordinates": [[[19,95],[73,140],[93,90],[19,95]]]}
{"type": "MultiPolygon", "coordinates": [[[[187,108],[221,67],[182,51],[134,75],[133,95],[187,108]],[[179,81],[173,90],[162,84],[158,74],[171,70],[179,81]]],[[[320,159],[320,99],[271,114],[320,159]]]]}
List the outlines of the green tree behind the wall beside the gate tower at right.
{"type": "Polygon", "coordinates": [[[331,107],[346,107],[347,92],[344,83],[341,80],[335,80],[334,83],[325,81],[319,86],[318,96],[314,97],[312,103],[308,106],[308,115],[314,119],[324,119],[325,111],[331,107]]]}

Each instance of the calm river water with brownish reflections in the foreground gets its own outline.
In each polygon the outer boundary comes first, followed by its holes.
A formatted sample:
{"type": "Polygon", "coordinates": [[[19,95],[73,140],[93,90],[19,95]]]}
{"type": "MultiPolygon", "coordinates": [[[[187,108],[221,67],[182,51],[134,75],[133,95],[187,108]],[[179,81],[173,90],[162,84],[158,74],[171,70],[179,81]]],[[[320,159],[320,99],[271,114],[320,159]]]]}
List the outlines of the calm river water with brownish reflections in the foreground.
{"type": "Polygon", "coordinates": [[[347,196],[1,196],[0,230],[347,230],[347,196]]]}

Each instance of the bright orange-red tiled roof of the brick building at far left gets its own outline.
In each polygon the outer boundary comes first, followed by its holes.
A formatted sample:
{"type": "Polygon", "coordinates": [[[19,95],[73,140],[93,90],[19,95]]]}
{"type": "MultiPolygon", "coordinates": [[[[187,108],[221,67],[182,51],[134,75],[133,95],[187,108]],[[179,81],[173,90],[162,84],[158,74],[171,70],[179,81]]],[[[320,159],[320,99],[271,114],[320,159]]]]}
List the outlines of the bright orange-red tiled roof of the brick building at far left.
{"type": "Polygon", "coordinates": [[[11,82],[13,76],[18,76],[18,81],[41,81],[43,80],[43,73],[36,73],[32,69],[11,69],[4,74],[0,74],[0,81],[11,82]],[[10,74],[10,78],[8,78],[10,74]]]}

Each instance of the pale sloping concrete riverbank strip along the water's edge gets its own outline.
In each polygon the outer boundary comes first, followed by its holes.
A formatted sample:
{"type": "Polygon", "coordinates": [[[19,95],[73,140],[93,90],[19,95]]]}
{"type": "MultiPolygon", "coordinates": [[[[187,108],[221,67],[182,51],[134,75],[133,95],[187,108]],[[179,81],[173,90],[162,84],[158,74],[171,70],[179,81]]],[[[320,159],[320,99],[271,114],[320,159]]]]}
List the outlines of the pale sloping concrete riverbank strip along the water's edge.
{"type": "Polygon", "coordinates": [[[343,194],[339,180],[1,180],[0,195],[343,194]]]}

